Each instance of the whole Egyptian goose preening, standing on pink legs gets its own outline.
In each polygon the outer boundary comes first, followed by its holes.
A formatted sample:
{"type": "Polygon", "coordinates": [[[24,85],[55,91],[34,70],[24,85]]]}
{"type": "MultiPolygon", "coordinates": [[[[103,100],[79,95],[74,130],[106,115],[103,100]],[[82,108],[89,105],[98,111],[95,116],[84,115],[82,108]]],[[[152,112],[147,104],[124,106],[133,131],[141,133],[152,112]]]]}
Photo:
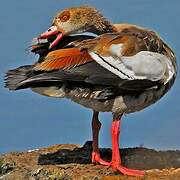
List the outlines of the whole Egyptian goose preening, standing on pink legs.
{"type": "Polygon", "coordinates": [[[120,119],[155,103],[173,85],[177,66],[168,45],[153,31],[113,25],[96,9],[85,6],[59,12],[32,52],[40,55],[38,62],[9,70],[5,86],[10,90],[31,88],[93,109],[92,162],[143,176],[143,171],[121,164],[120,119]],[[111,162],[100,158],[98,147],[98,114],[105,111],[113,114],[111,162]]]}

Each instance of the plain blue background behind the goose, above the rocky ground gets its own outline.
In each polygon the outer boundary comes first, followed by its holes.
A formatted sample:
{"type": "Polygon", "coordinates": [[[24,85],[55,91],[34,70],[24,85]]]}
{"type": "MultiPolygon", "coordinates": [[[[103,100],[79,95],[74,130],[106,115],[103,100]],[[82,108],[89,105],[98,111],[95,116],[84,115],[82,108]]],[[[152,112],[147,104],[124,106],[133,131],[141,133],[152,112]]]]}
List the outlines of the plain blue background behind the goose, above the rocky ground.
{"type": "MultiPolygon", "coordinates": [[[[60,143],[83,144],[91,139],[91,110],[65,99],[21,90],[3,83],[11,68],[31,64],[36,56],[25,50],[65,7],[92,5],[114,23],[133,23],[157,31],[180,57],[179,0],[4,0],[0,6],[0,153],[60,143]]],[[[121,147],[180,148],[180,82],[155,105],[123,118],[121,147]]],[[[102,113],[102,147],[110,147],[111,114],[102,113]]]]}

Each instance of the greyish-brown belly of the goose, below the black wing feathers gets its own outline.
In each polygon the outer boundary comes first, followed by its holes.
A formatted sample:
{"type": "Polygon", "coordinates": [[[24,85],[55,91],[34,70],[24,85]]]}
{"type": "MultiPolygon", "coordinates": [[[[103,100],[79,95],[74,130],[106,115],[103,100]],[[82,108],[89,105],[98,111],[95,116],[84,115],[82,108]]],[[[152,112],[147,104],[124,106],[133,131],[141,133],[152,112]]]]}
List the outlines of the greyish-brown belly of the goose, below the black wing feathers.
{"type": "Polygon", "coordinates": [[[99,112],[113,112],[114,114],[132,113],[140,111],[158,101],[172,86],[174,79],[158,89],[149,89],[138,95],[117,96],[115,99],[99,101],[96,99],[101,91],[92,91],[89,88],[74,87],[68,89],[65,85],[61,87],[38,87],[32,91],[44,96],[67,98],[84,107],[99,112]]]}

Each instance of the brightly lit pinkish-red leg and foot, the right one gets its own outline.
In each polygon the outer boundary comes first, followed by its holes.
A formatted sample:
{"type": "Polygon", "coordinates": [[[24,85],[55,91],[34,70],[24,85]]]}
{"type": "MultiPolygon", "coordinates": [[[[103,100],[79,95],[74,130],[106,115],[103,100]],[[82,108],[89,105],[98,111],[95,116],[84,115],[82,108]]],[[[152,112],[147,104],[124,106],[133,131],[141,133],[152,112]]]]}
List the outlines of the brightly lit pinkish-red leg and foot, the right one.
{"type": "Polygon", "coordinates": [[[144,176],[144,171],[128,169],[121,165],[121,157],[119,153],[119,132],[120,132],[120,119],[115,119],[112,122],[112,161],[111,166],[114,170],[120,171],[122,174],[130,176],[144,176]]]}

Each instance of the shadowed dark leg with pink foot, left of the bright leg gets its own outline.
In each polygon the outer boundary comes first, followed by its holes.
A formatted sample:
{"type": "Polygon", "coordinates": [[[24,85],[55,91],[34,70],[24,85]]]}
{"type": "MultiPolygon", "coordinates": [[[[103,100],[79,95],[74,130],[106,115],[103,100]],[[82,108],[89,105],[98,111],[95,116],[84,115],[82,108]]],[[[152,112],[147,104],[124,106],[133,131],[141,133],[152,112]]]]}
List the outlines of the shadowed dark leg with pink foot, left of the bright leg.
{"type": "Polygon", "coordinates": [[[99,112],[94,111],[93,112],[93,118],[92,118],[92,134],[93,134],[93,152],[92,152],[92,163],[94,164],[102,164],[104,166],[109,166],[110,163],[102,160],[100,158],[99,154],[99,142],[98,142],[98,137],[99,137],[99,130],[101,128],[101,122],[98,119],[99,112]]]}

